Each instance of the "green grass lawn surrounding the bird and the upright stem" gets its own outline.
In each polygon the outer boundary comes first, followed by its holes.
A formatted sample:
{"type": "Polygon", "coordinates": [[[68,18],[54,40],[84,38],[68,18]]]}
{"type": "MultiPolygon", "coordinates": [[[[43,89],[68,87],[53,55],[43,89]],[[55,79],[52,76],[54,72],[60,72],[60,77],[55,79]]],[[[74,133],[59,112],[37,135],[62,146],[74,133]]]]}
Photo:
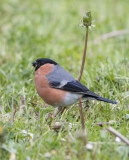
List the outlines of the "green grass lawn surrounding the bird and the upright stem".
{"type": "Polygon", "coordinates": [[[129,37],[93,43],[105,33],[128,26],[127,0],[0,1],[0,159],[129,158],[128,147],[105,131],[107,125],[96,125],[112,121],[112,127],[129,139],[129,37]],[[55,121],[46,122],[46,114],[55,109],[45,108],[37,95],[31,67],[38,57],[48,57],[78,78],[85,38],[78,24],[86,11],[92,12],[96,27],[89,32],[81,82],[120,102],[116,107],[97,101],[90,101],[89,107],[84,104],[91,150],[77,133],[81,123],[76,104],[55,121]],[[62,125],[58,133],[52,129],[55,122],[62,125]]]}

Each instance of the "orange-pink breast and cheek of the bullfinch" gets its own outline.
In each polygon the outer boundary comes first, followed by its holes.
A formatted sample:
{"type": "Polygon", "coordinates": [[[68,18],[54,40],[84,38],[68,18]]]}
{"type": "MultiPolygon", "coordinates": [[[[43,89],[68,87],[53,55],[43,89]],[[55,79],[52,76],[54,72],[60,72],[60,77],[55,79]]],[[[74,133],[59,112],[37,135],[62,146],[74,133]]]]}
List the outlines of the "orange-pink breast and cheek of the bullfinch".
{"type": "Polygon", "coordinates": [[[35,71],[35,86],[39,96],[52,106],[59,106],[66,96],[66,91],[51,88],[46,75],[53,70],[53,64],[45,64],[35,71]]]}

